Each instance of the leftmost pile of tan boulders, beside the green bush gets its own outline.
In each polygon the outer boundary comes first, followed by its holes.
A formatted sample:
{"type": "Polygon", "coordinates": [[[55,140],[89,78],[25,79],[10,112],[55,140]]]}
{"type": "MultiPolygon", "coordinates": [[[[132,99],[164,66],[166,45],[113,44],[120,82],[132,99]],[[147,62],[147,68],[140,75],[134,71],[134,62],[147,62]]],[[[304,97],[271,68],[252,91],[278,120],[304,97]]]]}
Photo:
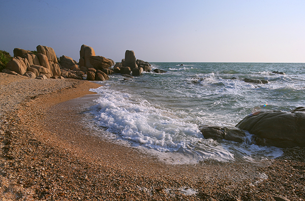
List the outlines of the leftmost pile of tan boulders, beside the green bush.
{"type": "Polygon", "coordinates": [[[53,48],[39,45],[37,52],[38,54],[35,55],[31,51],[15,48],[14,57],[8,62],[7,70],[4,72],[16,72],[29,78],[36,78],[40,73],[48,74],[46,77],[60,76],[60,68],[53,48]]]}

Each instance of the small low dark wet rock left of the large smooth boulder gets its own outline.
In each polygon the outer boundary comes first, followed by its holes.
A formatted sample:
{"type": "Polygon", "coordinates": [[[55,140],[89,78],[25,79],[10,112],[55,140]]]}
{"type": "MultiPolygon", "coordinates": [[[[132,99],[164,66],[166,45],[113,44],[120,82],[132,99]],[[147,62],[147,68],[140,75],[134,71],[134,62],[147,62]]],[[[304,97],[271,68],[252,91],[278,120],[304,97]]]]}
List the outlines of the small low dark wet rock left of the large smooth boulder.
{"type": "Polygon", "coordinates": [[[205,139],[244,142],[246,133],[237,127],[202,126],[199,128],[205,139]]]}

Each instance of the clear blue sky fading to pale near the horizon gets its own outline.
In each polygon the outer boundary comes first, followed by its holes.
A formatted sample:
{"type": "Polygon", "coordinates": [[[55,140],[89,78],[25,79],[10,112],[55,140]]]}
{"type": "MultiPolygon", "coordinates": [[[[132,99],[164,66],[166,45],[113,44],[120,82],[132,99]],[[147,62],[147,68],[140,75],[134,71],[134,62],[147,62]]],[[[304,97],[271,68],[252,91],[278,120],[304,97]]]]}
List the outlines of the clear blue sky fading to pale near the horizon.
{"type": "Polygon", "coordinates": [[[305,1],[1,0],[0,50],[118,62],[305,62],[305,1]]]}

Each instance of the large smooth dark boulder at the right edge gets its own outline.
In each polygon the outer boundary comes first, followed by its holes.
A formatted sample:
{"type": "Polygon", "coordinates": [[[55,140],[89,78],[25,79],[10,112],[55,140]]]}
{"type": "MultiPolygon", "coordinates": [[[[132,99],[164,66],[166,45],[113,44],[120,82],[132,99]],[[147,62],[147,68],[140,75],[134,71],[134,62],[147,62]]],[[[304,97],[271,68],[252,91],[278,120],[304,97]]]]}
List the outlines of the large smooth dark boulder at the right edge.
{"type": "Polygon", "coordinates": [[[262,110],[245,117],[236,127],[253,134],[257,145],[305,147],[304,107],[291,112],[262,110]]]}

